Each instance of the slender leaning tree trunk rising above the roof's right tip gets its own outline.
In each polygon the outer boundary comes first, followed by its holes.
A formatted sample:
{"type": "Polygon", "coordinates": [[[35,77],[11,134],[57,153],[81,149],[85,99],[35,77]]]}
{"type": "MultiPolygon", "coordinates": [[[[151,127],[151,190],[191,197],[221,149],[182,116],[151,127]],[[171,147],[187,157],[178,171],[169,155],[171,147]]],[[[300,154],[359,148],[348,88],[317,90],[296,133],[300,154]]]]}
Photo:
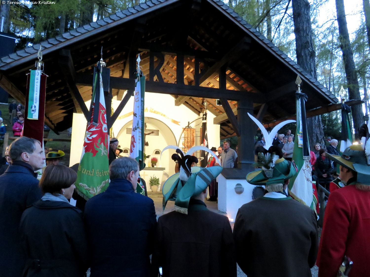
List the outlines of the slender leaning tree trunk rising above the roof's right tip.
{"type": "MultiPolygon", "coordinates": [[[[346,13],[344,11],[344,1],[335,0],[335,4],[337,8],[340,48],[342,49],[343,54],[344,70],[346,71],[349,99],[361,99],[359,80],[357,79],[357,72],[353,60],[353,52],[349,40],[346,13]]],[[[353,118],[354,136],[356,139],[358,139],[359,137],[357,135],[357,130],[359,129],[360,125],[364,122],[362,105],[356,105],[352,107],[352,118],[353,118]]]]}

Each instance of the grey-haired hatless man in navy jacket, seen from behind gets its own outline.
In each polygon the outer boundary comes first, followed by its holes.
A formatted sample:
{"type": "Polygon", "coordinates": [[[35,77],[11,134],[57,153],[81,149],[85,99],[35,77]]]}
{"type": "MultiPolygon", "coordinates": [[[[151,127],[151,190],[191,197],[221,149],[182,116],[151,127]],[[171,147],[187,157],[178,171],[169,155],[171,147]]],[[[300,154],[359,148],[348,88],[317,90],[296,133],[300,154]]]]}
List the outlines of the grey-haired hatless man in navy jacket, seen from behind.
{"type": "Polygon", "coordinates": [[[139,164],[129,157],[109,167],[108,189],[85,205],[90,277],[148,277],[157,225],[154,202],[135,192],[139,164]]]}

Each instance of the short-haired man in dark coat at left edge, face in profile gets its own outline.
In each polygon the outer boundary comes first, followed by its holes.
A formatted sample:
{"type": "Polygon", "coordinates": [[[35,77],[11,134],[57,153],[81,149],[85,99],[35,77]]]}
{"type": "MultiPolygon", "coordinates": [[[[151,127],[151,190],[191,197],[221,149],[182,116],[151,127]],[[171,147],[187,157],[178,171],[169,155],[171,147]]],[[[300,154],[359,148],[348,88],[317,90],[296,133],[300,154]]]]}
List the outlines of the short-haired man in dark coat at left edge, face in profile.
{"type": "Polygon", "coordinates": [[[19,223],[27,206],[41,199],[37,174],[45,155],[40,141],[21,137],[10,144],[11,165],[0,176],[0,276],[22,275],[26,257],[21,250],[19,223]]]}

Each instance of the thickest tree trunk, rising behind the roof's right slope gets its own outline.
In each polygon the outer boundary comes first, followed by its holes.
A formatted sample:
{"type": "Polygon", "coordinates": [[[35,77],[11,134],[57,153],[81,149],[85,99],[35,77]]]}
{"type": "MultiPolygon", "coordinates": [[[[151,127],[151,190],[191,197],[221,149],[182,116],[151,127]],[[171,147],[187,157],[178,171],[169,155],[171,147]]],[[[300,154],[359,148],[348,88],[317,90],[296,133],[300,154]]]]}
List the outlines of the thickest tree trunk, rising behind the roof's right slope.
{"type": "MultiPolygon", "coordinates": [[[[296,36],[297,63],[316,79],[315,51],[313,50],[310,4],[307,0],[294,0],[293,21],[296,36]]],[[[321,116],[307,118],[307,133],[310,145],[324,143],[321,116]]]]}

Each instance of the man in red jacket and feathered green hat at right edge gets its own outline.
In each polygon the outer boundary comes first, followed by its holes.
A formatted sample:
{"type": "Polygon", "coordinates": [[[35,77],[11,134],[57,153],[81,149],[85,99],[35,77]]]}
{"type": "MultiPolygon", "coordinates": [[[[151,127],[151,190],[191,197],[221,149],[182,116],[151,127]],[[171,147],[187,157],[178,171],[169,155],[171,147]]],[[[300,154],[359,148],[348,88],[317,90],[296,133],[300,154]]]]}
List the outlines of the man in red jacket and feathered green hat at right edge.
{"type": "Polygon", "coordinates": [[[348,276],[370,274],[370,153],[364,145],[351,145],[342,156],[326,153],[340,165],[345,186],[330,193],[326,206],[317,258],[319,277],[336,277],[344,256],[353,261],[348,276]]]}

